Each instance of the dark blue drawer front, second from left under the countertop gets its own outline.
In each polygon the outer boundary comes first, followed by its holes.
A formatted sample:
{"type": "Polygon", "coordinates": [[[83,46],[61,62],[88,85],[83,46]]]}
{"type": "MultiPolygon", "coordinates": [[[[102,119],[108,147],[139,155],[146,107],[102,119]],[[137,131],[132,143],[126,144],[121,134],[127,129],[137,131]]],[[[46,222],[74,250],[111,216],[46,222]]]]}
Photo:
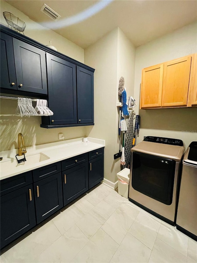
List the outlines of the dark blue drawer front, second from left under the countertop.
{"type": "Polygon", "coordinates": [[[61,163],[55,162],[50,165],[33,170],[33,179],[34,182],[37,182],[43,178],[49,177],[50,175],[55,175],[59,172],[61,172],[61,163]]]}

